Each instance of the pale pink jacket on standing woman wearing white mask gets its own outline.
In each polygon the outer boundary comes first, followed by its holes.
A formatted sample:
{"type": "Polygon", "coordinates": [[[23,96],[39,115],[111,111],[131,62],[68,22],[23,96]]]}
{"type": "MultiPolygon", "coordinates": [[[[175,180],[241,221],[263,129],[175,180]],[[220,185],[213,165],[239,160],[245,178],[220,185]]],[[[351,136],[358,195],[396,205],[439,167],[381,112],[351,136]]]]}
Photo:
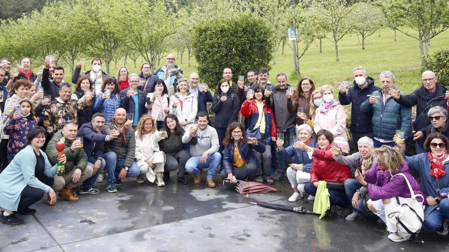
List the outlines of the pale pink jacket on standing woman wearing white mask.
{"type": "Polygon", "coordinates": [[[332,107],[328,111],[322,112],[324,103],[322,103],[315,111],[315,121],[313,122],[313,130],[318,132],[321,129],[329,130],[334,134],[334,143],[342,149],[348,148],[346,128],[346,113],[343,106],[334,101],[332,107]]]}

